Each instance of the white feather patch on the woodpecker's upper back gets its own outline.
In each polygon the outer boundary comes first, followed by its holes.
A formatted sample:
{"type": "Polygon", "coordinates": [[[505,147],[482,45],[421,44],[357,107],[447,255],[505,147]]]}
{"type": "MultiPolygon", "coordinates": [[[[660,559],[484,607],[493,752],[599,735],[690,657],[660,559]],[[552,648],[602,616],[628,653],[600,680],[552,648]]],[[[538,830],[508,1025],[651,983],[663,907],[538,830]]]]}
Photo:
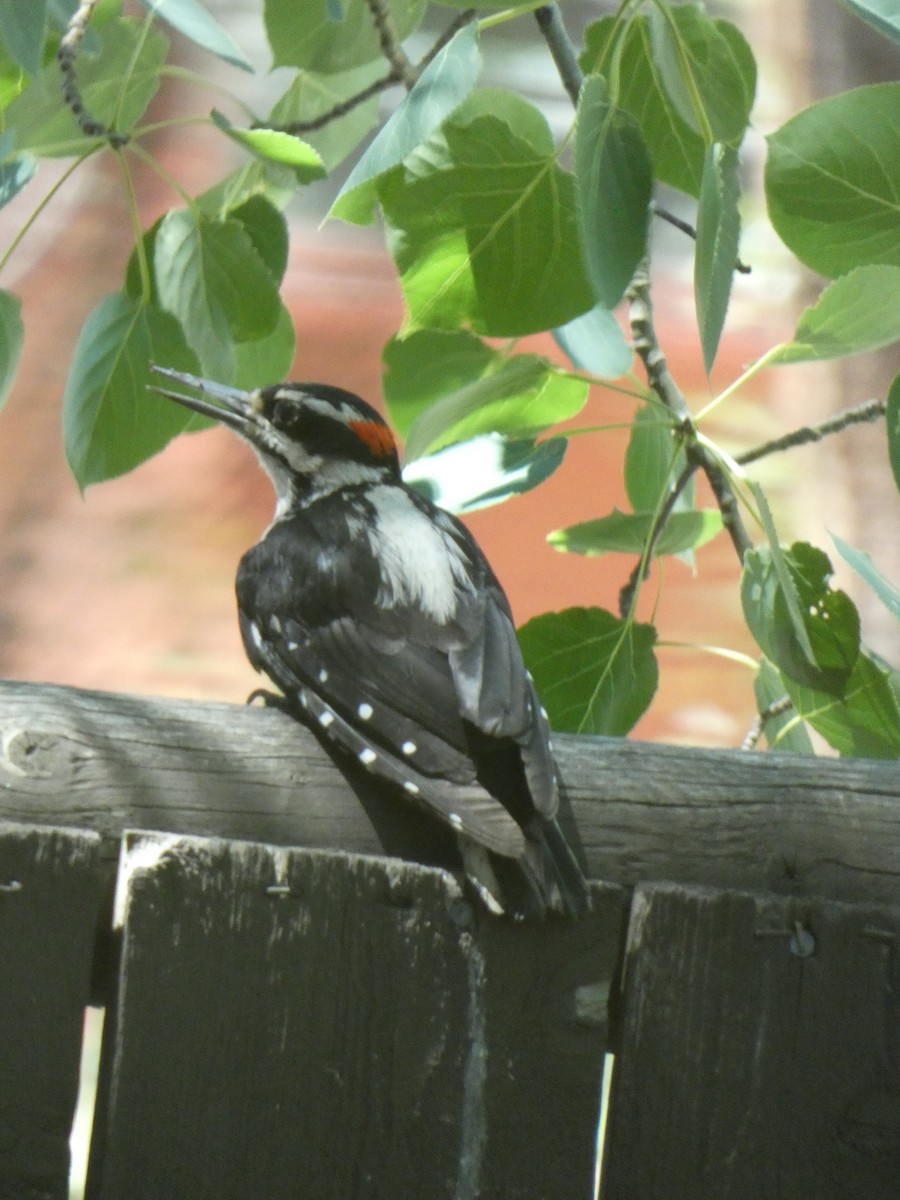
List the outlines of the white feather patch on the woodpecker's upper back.
{"type": "Polygon", "coordinates": [[[415,605],[434,620],[449,620],[457,593],[472,590],[466,559],[452,536],[400,487],[374,487],[367,499],[376,515],[368,538],[384,570],[377,602],[384,608],[415,605]]]}

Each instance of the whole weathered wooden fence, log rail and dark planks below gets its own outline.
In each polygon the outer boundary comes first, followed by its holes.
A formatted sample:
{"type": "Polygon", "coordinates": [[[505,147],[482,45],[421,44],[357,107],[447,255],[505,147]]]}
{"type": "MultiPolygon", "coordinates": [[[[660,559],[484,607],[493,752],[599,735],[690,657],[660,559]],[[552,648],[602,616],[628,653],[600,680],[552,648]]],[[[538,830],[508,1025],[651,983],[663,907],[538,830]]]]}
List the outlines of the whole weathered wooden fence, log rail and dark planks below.
{"type": "Polygon", "coordinates": [[[0,1198],[899,1200],[900,768],[558,739],[515,924],[274,710],[0,684],[0,1198]],[[410,842],[412,838],[412,842],[410,842]],[[302,847],[302,848],[298,848],[302,847]]]}

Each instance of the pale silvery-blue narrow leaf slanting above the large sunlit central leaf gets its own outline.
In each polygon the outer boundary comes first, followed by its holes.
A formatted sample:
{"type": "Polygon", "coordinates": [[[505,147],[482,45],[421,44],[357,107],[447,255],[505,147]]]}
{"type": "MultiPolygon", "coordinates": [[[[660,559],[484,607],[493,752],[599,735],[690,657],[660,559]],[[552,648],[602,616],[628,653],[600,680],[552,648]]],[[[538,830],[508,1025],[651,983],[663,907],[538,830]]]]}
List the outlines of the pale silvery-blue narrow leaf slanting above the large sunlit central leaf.
{"type": "Polygon", "coordinates": [[[481,56],[478,29],[466,25],[422,71],[415,86],[350,172],[329,216],[366,224],[376,180],[409,157],[475,86],[481,56]]]}

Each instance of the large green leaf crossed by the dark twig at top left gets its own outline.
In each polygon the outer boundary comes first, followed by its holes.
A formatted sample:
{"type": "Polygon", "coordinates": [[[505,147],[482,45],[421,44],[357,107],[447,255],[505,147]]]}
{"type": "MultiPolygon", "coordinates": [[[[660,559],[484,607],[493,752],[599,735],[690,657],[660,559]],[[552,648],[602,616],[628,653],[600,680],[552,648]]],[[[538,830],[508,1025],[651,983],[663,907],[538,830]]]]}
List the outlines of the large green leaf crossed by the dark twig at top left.
{"type": "MultiPolygon", "coordinates": [[[[78,59],[82,100],[92,118],[127,133],[156,95],[169,43],[158,30],[125,19],[103,25],[100,41],[98,55],[78,59]]],[[[102,140],[86,137],[62,102],[55,60],[16,97],[6,116],[17,148],[38,157],[82,154],[102,140]]]]}

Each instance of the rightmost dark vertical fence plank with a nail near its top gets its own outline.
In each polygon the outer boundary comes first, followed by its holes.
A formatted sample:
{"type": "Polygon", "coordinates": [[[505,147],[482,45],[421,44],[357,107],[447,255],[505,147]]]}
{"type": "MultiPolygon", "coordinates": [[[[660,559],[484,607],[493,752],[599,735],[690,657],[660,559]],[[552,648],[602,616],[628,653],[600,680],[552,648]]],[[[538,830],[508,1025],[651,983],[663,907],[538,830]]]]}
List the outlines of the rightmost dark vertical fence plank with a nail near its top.
{"type": "Polygon", "coordinates": [[[635,895],[604,1200],[896,1200],[900,908],[635,895]]]}

